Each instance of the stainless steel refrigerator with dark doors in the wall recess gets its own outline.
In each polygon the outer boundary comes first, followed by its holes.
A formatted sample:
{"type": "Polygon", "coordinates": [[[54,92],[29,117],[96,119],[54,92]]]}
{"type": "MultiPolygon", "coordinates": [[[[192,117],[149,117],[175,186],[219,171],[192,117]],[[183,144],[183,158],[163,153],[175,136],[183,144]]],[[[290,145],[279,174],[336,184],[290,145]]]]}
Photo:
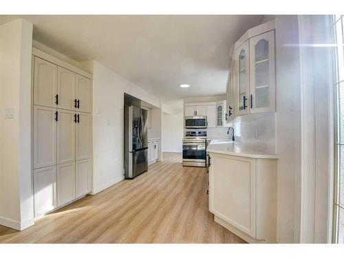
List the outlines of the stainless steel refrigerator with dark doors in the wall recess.
{"type": "Polygon", "coordinates": [[[125,178],[148,170],[147,110],[125,107],[125,178]]]}

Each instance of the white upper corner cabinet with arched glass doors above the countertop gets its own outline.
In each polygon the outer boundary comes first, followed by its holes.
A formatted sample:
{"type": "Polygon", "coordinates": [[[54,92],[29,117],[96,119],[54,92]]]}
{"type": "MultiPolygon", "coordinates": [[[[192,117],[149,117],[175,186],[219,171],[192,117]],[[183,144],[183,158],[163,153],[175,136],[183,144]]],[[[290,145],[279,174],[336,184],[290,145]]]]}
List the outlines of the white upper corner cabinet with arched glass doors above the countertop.
{"type": "Polygon", "coordinates": [[[275,112],[275,102],[275,21],[268,21],[235,43],[227,83],[227,120],[275,112]]]}

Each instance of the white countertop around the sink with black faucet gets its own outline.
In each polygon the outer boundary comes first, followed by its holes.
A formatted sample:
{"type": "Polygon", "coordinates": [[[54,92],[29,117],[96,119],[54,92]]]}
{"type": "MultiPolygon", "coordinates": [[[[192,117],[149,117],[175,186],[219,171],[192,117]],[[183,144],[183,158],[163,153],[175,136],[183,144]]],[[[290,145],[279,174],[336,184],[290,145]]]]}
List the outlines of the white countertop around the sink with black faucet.
{"type": "Polygon", "coordinates": [[[261,144],[232,142],[230,140],[211,140],[207,151],[210,153],[237,155],[247,158],[278,158],[278,155],[269,153],[261,144]]]}

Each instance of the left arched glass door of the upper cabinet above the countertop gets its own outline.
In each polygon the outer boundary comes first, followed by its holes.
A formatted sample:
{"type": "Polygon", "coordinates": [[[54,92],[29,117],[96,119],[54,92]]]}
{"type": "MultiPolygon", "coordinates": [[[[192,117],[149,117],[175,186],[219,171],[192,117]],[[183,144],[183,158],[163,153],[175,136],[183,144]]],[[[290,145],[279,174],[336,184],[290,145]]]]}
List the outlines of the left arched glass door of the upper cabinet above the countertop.
{"type": "Polygon", "coordinates": [[[249,59],[248,59],[248,41],[245,41],[237,50],[235,50],[235,61],[237,61],[237,97],[238,97],[238,115],[248,114],[250,103],[248,98],[249,82],[249,59]]]}

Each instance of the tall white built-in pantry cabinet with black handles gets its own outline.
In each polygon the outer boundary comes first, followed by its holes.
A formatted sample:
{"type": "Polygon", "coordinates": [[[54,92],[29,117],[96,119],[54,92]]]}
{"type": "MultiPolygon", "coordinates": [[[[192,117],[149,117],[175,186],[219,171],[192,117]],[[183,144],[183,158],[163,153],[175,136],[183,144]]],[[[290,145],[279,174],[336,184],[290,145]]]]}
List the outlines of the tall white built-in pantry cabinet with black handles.
{"type": "Polygon", "coordinates": [[[92,76],[39,50],[33,49],[33,54],[34,216],[38,217],[91,191],[92,76]]]}

